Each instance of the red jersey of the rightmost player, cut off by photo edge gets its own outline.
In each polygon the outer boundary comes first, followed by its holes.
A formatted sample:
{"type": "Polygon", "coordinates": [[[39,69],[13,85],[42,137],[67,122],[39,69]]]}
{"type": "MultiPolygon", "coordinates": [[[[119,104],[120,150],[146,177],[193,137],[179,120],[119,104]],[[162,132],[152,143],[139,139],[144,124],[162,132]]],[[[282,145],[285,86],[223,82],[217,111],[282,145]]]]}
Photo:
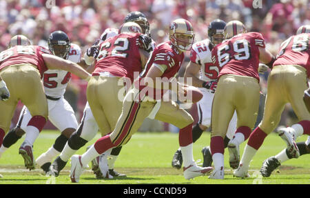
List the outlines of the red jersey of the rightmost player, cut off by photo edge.
{"type": "Polygon", "coordinates": [[[298,34],[289,37],[281,44],[273,66],[298,65],[307,69],[310,77],[310,34],[298,34]]]}

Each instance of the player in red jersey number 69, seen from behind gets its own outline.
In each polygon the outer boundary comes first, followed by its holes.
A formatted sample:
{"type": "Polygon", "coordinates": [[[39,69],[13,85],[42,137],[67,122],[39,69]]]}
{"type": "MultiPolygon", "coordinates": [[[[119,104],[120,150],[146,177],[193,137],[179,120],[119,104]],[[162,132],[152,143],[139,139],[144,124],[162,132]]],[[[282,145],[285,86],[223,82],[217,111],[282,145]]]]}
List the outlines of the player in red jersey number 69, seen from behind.
{"type": "Polygon", "coordinates": [[[271,67],[275,57],[265,49],[258,32],[247,32],[240,21],[226,24],[225,41],[214,47],[212,60],[220,68],[211,115],[211,154],[214,171],[210,179],[224,179],[224,137],[234,112],[237,129],[228,143],[229,165],[237,168],[239,145],[247,140],[256,123],[260,99],[259,61],[271,67]]]}

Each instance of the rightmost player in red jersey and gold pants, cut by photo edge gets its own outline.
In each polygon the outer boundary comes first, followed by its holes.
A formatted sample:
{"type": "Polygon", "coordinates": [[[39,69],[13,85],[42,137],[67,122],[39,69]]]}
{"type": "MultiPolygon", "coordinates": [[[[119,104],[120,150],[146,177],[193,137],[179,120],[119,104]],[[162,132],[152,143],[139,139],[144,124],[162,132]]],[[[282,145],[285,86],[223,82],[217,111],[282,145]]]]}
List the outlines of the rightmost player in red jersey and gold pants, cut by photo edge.
{"type": "MultiPolygon", "coordinates": [[[[262,121],[249,137],[239,167],[234,172],[236,177],[248,176],[247,171],[251,159],[265,137],[278,126],[286,103],[291,103],[299,122],[289,128],[281,128],[277,132],[287,143],[288,155],[293,158],[300,156],[295,139],[302,134],[310,135],[310,113],[303,101],[304,90],[308,87],[307,78],[309,78],[309,46],[310,34],[299,31],[280,46],[277,59],[268,77],[267,98],[262,121]]],[[[268,176],[269,171],[262,170],[262,175],[268,176]]]]}

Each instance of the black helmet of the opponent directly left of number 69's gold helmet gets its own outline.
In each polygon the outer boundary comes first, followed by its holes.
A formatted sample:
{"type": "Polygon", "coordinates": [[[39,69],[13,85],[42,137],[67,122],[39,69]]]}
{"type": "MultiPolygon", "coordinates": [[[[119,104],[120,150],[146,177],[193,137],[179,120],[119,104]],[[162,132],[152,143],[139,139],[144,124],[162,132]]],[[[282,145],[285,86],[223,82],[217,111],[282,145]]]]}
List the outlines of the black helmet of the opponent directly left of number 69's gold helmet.
{"type": "Polygon", "coordinates": [[[215,19],[211,21],[211,23],[208,26],[208,37],[211,42],[212,46],[215,46],[218,43],[221,43],[224,40],[224,28],[226,26],[225,21],[222,21],[220,19],[215,19]],[[221,34],[223,35],[223,39],[214,38],[213,36],[215,34],[221,34]],[[218,43],[214,43],[214,41],[218,41],[218,43]]]}

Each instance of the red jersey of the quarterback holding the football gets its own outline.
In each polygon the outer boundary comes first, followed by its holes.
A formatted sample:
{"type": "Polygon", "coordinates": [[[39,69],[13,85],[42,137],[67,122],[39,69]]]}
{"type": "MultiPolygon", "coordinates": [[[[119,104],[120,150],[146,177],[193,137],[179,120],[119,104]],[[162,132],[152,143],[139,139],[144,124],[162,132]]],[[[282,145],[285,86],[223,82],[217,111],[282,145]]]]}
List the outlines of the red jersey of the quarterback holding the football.
{"type": "MultiPolygon", "coordinates": [[[[164,43],[159,44],[152,52],[152,56],[149,58],[149,61],[145,66],[145,70],[141,73],[140,81],[147,75],[147,72],[151,66],[156,66],[163,71],[161,79],[165,78],[169,80],[176,77],[183,60],[184,53],[179,52],[170,41],[165,41],[164,43]]],[[[135,83],[135,86],[137,87],[138,85],[135,83]]],[[[138,88],[139,90],[143,90],[145,86],[139,85],[138,88]]],[[[167,90],[154,89],[154,92],[147,92],[145,94],[153,99],[161,99],[166,91],[167,90]]]]}

